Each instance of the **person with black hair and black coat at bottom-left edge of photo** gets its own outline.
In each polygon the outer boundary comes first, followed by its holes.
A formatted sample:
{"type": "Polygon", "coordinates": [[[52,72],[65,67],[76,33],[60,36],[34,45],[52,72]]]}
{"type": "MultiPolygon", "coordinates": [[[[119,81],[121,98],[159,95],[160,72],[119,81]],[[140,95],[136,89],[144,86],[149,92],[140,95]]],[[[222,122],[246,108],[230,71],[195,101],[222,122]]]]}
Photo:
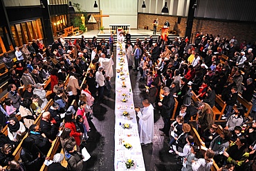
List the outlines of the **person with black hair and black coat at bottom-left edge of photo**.
{"type": "Polygon", "coordinates": [[[44,163],[44,158],[36,147],[33,138],[25,138],[21,147],[21,160],[25,165],[26,171],[40,170],[44,163]]]}

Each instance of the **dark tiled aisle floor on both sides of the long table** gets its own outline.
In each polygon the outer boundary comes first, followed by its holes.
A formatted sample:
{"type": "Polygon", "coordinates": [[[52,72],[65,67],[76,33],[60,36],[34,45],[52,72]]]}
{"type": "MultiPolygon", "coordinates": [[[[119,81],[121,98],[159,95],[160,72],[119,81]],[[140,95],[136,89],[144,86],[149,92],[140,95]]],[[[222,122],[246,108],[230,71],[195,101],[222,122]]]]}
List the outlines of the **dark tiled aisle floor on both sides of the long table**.
{"type": "MultiPolygon", "coordinates": [[[[115,69],[115,66],[113,66],[115,69]]],[[[140,82],[140,74],[130,71],[131,84],[134,93],[134,105],[143,107],[142,100],[145,98],[145,88],[140,82]]],[[[113,170],[114,157],[114,79],[111,98],[105,97],[100,105],[93,106],[93,120],[91,120],[91,132],[89,132],[89,142],[87,150],[91,154],[91,159],[86,162],[84,170],[90,171],[111,171],[113,170]]],[[[169,145],[167,138],[161,136],[159,128],[163,127],[163,120],[160,114],[154,114],[154,142],[151,145],[143,146],[143,156],[147,171],[169,171],[181,170],[181,166],[176,164],[174,156],[168,153],[169,145]]]]}

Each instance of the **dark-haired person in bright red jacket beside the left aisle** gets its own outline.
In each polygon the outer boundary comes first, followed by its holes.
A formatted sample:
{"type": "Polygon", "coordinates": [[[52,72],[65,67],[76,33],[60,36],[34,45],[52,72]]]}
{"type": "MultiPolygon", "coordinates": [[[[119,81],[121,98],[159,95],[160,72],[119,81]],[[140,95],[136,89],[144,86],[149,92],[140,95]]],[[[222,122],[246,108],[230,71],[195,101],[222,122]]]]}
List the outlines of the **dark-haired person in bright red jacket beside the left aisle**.
{"type": "Polygon", "coordinates": [[[75,127],[75,123],[73,122],[73,119],[74,119],[74,115],[72,114],[72,112],[66,111],[64,127],[71,129],[70,136],[73,136],[75,138],[76,144],[78,146],[80,146],[82,132],[77,132],[77,129],[75,127]]]}

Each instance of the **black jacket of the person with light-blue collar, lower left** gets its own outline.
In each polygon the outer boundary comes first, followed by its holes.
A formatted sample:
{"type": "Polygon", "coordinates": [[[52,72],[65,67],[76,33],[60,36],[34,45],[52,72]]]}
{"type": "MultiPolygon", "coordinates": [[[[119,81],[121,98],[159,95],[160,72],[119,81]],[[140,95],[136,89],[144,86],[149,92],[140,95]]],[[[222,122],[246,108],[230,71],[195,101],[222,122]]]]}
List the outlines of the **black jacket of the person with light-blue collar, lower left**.
{"type": "Polygon", "coordinates": [[[45,155],[48,153],[48,150],[51,148],[51,143],[49,142],[48,138],[44,138],[42,134],[31,132],[29,137],[33,138],[35,145],[41,150],[42,153],[45,155]]]}

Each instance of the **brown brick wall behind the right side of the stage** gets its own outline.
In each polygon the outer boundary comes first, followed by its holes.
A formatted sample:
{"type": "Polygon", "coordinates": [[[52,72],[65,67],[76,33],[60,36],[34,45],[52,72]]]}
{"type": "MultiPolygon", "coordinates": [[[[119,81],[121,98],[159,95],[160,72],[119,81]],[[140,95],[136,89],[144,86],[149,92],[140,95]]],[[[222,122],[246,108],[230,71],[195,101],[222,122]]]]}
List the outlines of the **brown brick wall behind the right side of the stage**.
{"type": "MultiPolygon", "coordinates": [[[[186,17],[181,18],[181,24],[177,24],[178,17],[172,17],[167,15],[152,15],[138,13],[138,28],[144,28],[149,26],[150,30],[153,30],[152,22],[158,18],[159,25],[163,25],[165,20],[170,22],[170,28],[178,31],[180,37],[185,36],[186,17]]],[[[235,21],[216,21],[210,19],[194,19],[192,33],[197,31],[203,33],[209,33],[214,35],[220,35],[221,37],[232,38],[234,35],[238,42],[243,42],[246,39],[247,42],[256,41],[256,23],[245,23],[235,21]]],[[[192,39],[193,40],[193,39],[192,39]]]]}

